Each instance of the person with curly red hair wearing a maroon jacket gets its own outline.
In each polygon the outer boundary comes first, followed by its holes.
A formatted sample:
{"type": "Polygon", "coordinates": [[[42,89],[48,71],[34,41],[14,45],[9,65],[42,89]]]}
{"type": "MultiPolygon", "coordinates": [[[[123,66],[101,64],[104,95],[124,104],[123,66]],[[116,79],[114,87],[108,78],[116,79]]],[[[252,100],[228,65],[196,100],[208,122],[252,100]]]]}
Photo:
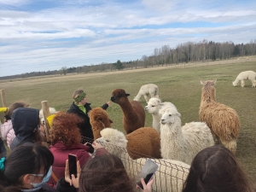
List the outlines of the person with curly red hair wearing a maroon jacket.
{"type": "MultiPolygon", "coordinates": [[[[90,160],[90,148],[80,143],[81,134],[78,124],[82,119],[74,113],[59,112],[55,117],[49,130],[51,145],[49,150],[55,157],[53,164],[54,177],[50,177],[48,184],[55,187],[57,180],[65,175],[65,165],[68,154],[75,154],[81,164],[90,160]]],[[[97,146],[98,147],[98,146],[97,146]]],[[[105,148],[96,148],[96,155],[108,153],[105,148]]]]}

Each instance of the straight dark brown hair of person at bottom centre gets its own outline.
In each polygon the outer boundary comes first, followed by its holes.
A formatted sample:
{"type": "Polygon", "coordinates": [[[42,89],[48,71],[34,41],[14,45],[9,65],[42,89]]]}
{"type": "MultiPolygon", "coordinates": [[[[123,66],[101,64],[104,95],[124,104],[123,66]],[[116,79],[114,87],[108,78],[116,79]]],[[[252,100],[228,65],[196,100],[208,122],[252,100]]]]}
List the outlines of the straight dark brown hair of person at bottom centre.
{"type": "Polygon", "coordinates": [[[122,161],[114,154],[103,154],[87,161],[79,178],[79,192],[132,192],[131,182],[122,161]]]}

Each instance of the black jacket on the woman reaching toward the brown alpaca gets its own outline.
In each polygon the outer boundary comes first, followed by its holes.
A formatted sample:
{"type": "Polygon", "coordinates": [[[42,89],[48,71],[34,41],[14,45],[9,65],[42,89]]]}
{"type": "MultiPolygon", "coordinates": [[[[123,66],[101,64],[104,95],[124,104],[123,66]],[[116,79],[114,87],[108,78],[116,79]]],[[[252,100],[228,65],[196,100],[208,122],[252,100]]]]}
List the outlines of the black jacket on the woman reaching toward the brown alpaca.
{"type": "MultiPolygon", "coordinates": [[[[78,125],[79,130],[80,130],[82,137],[88,137],[91,139],[91,141],[87,141],[87,142],[91,143],[93,141],[93,132],[91,130],[90,119],[88,116],[88,113],[91,110],[90,103],[86,102],[84,105],[84,108],[86,109],[86,113],[81,111],[79,109],[79,107],[73,102],[73,104],[67,110],[67,113],[75,113],[75,114],[79,115],[79,117],[81,119],[84,119],[84,122],[82,122],[81,124],[78,125]]],[[[106,110],[108,108],[108,104],[105,103],[104,105],[102,105],[102,108],[106,110]]]]}

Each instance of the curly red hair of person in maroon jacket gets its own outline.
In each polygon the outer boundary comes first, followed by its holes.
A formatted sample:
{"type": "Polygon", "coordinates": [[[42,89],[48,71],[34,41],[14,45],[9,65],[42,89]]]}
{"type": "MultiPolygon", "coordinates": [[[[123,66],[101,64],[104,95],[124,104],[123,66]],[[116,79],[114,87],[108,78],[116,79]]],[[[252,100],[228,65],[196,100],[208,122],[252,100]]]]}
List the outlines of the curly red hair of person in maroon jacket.
{"type": "Polygon", "coordinates": [[[52,144],[62,142],[65,146],[81,142],[81,134],[78,124],[83,119],[75,113],[59,112],[55,114],[49,130],[49,139],[52,144]]]}

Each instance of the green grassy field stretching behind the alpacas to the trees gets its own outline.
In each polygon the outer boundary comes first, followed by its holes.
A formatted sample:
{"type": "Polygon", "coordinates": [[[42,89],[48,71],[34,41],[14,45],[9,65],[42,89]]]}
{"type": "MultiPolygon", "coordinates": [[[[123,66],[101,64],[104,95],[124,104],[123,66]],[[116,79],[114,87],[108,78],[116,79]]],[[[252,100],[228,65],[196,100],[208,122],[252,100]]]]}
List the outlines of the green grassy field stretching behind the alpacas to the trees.
{"type": "MultiPolygon", "coordinates": [[[[217,101],[236,109],[241,120],[241,131],[237,141],[236,156],[241,160],[248,175],[256,183],[256,88],[250,81],[244,88],[233,87],[232,81],[242,71],[256,71],[256,61],[236,61],[236,63],[194,67],[155,67],[143,70],[129,70],[112,73],[76,74],[45,79],[0,82],[0,89],[5,90],[7,104],[18,100],[31,103],[32,108],[41,108],[42,101],[48,101],[49,107],[67,110],[72,100],[73,91],[85,90],[92,107],[102,106],[110,100],[114,89],[122,88],[137,95],[143,84],[153,83],[160,88],[163,102],[172,102],[182,115],[183,124],[199,121],[201,102],[201,80],[217,79],[217,101]]],[[[141,99],[143,106],[146,105],[141,99]]],[[[119,106],[112,103],[107,110],[113,120],[113,128],[123,131],[123,113],[119,106]]],[[[152,116],[146,113],[146,126],[152,123],[152,116]]]]}

